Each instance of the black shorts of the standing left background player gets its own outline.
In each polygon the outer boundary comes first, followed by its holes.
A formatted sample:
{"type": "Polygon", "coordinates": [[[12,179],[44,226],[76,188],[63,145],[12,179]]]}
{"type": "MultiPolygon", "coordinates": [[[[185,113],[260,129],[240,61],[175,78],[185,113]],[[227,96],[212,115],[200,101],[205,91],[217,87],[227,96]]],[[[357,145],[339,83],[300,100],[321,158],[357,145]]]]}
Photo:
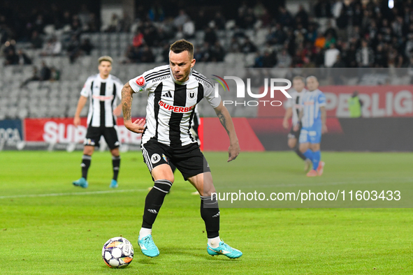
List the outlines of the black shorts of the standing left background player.
{"type": "Polygon", "coordinates": [[[117,139],[115,127],[92,127],[87,128],[85,142],[83,144],[99,147],[101,136],[105,137],[106,143],[110,149],[119,147],[120,142],[117,139]]]}

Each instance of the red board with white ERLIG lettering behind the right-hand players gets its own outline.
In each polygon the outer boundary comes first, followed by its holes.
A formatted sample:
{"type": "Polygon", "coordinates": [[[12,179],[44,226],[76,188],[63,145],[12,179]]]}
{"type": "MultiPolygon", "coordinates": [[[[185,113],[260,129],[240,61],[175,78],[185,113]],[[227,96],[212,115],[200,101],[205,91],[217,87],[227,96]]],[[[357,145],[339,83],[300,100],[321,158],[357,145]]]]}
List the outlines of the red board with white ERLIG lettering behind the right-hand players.
{"type": "MultiPolygon", "coordinates": [[[[319,89],[326,95],[328,117],[349,117],[347,100],[354,91],[358,91],[363,101],[363,117],[413,117],[413,85],[324,86],[319,89]]],[[[287,101],[281,93],[275,93],[274,98],[266,96],[260,100],[282,101],[283,105],[287,101]]],[[[284,112],[284,107],[260,104],[258,117],[283,117],[284,112]]]]}

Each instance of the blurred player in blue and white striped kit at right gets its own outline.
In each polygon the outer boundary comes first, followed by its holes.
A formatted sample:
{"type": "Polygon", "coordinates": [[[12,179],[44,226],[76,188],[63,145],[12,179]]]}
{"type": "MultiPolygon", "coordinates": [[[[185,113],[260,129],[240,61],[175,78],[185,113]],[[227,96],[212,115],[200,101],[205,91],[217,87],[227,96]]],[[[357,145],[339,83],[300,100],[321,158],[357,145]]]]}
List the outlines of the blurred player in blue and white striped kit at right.
{"type": "Polygon", "coordinates": [[[298,130],[299,124],[303,124],[300,133],[300,151],[312,161],[312,170],[307,173],[307,177],[321,176],[324,171],[324,162],[320,161],[321,134],[327,133],[326,126],[326,96],[318,89],[317,77],[307,77],[307,89],[304,94],[298,117],[299,122],[295,126],[298,130]]]}

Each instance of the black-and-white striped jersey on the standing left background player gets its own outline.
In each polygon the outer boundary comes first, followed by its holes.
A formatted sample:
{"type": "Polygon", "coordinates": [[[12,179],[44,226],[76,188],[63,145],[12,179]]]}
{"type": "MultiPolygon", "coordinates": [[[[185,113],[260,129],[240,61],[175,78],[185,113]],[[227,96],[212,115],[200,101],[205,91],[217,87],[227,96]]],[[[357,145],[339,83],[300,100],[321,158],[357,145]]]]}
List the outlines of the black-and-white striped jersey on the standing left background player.
{"type": "Polygon", "coordinates": [[[89,113],[87,126],[113,127],[116,126],[116,117],[113,110],[117,106],[117,99],[122,99],[123,84],[119,78],[109,75],[103,80],[98,74],[87,78],[80,95],[89,98],[89,113]]]}

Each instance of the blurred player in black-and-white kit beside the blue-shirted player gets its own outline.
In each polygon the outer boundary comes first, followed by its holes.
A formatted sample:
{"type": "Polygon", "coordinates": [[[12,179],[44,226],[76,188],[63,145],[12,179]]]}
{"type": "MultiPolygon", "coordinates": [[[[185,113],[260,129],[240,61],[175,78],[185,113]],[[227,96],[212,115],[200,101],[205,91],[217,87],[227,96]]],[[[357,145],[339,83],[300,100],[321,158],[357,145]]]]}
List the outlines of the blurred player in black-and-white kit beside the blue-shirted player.
{"type": "Polygon", "coordinates": [[[298,131],[294,131],[294,127],[298,124],[298,115],[300,114],[301,110],[301,101],[303,99],[303,95],[307,90],[305,89],[305,80],[302,76],[296,76],[293,78],[293,89],[289,91],[289,95],[291,98],[287,101],[287,110],[284,114],[284,120],[282,121],[282,126],[284,128],[289,128],[289,119],[292,117],[292,126],[290,133],[288,134],[288,146],[291,149],[294,149],[297,156],[299,156],[303,161],[305,161],[304,170],[307,171],[310,169],[311,161],[310,159],[306,158],[303,153],[301,153],[300,149],[298,148],[298,137],[300,137],[301,126],[298,125],[298,131]]]}

